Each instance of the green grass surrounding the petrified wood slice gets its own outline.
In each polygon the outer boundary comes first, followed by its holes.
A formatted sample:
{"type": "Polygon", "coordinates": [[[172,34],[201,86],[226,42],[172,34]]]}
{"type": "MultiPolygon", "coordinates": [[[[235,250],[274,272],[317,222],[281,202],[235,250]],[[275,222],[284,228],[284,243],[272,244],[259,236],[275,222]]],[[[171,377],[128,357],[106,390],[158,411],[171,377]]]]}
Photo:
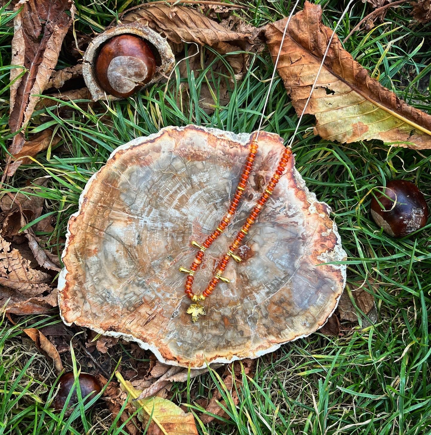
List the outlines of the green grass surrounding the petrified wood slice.
{"type": "MultiPolygon", "coordinates": [[[[87,34],[101,31],[115,19],[116,10],[136,4],[121,0],[77,3],[75,28],[87,34]]],[[[333,28],[343,11],[343,2],[316,3],[323,6],[324,23],[333,28]]],[[[290,11],[290,2],[281,0],[242,4],[247,6],[246,10],[234,13],[255,26],[279,19],[290,11]]],[[[369,12],[370,8],[362,2],[354,4],[340,23],[337,31],[340,39],[369,12]]],[[[376,22],[369,32],[355,32],[344,46],[384,86],[415,107],[429,110],[431,25],[414,22],[410,13],[408,3],[388,9],[383,24],[376,22]]],[[[12,18],[10,11],[1,10],[3,157],[11,137],[7,120],[12,18]]],[[[62,53],[58,67],[68,65],[67,56],[62,53]]],[[[207,70],[217,95],[219,81],[229,77],[220,76],[211,65],[207,70]]],[[[246,77],[232,90],[231,102],[223,106],[215,101],[211,115],[199,107],[202,71],[190,72],[187,80],[191,92],[182,110],[176,104],[180,80],[175,74],[167,88],[165,84],[156,84],[127,100],[110,104],[91,106],[88,102],[53,100],[51,108],[35,112],[28,131],[51,127],[62,141],[57,149],[50,149],[34,163],[21,166],[7,180],[3,192],[15,193],[27,181],[48,177],[47,185],[34,187],[33,194],[44,198],[43,213],[53,213],[56,223],[52,233],[39,235],[47,238],[54,251],[58,248],[61,252],[67,220],[77,210],[79,194],[111,151],[134,137],[155,133],[168,125],[193,123],[235,132],[255,130],[272,70],[267,51],[253,55],[246,77]],[[57,110],[66,106],[72,113],[67,119],[60,117],[57,110]]],[[[264,129],[278,133],[287,142],[296,121],[283,84],[276,76],[264,129]]],[[[413,181],[429,200],[431,152],[388,147],[377,141],[340,145],[314,136],[312,126],[313,119],[304,117],[293,144],[296,167],[310,190],[332,207],[332,217],[348,256],[346,291],[354,291],[364,283],[374,294],[377,321],[370,324],[358,311],[359,325],[343,324],[341,337],[313,334],[259,358],[253,377],[243,375],[238,405],[229,400],[217,372],[174,385],[170,398],[188,405],[199,415],[202,409],[195,401],[209,397],[214,388],[219,389],[226,399],[230,419],[209,425],[198,422],[200,433],[429,434],[431,223],[409,238],[393,239],[376,227],[370,218],[369,204],[373,189],[393,178],[413,181]]],[[[28,326],[58,321],[55,311],[52,316],[20,319],[22,325],[28,326]]],[[[47,405],[56,381],[49,361],[25,344],[18,326],[5,320],[1,328],[0,389],[8,392],[0,400],[0,434],[125,433],[111,423],[106,409],[87,410],[86,405],[81,405],[70,417],[54,414],[47,405]]],[[[124,347],[116,351],[114,362],[126,353],[124,347]]],[[[83,364],[78,354],[71,361],[67,363],[69,370],[79,370],[83,364]]]]}

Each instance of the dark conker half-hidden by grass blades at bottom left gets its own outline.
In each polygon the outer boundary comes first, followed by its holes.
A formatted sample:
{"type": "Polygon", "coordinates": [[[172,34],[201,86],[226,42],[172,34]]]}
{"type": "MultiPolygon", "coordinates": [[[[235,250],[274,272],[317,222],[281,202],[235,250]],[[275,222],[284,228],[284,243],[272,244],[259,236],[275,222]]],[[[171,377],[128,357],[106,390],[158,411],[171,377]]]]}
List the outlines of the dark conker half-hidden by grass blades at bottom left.
{"type": "MultiPolygon", "coordinates": [[[[64,405],[66,404],[67,396],[69,395],[72,386],[74,384],[74,380],[75,378],[73,373],[65,373],[58,380],[60,384],[60,389],[58,390],[58,393],[55,396],[54,401],[52,402],[53,408],[56,409],[57,411],[60,411],[61,409],[64,408],[64,405]]],[[[93,375],[88,375],[87,373],[81,373],[78,376],[78,381],[79,381],[79,387],[81,389],[82,398],[86,397],[88,394],[93,392],[93,394],[91,394],[88,397],[86,402],[94,398],[94,396],[97,395],[101,390],[98,380],[93,375]]],[[[77,402],[78,402],[78,398],[77,398],[76,388],[75,388],[67,404],[67,407],[76,405],[77,402]]]]}

